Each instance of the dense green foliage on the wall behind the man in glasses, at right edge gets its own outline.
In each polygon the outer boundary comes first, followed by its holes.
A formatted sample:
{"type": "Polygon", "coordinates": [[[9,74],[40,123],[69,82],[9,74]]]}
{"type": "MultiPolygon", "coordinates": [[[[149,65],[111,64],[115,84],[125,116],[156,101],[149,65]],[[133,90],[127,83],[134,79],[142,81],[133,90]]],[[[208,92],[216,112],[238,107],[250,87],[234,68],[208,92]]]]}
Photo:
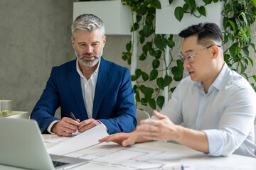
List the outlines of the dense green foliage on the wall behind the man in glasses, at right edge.
{"type": "MultiPolygon", "coordinates": [[[[236,72],[242,74],[248,81],[256,76],[246,74],[249,63],[253,67],[251,56],[255,56],[255,44],[252,43],[250,26],[255,22],[256,0],[224,1],[224,44],[228,45],[224,52],[225,62],[236,72]],[[249,54],[252,47],[254,53],[249,54]]],[[[256,91],[255,84],[251,84],[256,91]]]]}

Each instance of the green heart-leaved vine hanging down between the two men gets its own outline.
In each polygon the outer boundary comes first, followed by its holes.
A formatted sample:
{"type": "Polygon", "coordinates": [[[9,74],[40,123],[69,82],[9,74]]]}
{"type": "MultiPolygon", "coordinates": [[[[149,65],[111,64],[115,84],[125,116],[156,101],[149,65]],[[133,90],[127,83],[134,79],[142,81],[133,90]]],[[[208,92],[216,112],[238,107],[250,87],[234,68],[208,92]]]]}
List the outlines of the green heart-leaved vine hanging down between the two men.
{"type": "MultiPolygon", "coordinates": [[[[165,35],[155,34],[156,8],[161,8],[159,0],[122,0],[122,3],[131,8],[132,16],[136,13],[136,21],[132,21],[132,32],[139,30],[139,44],[142,45],[142,53],[138,55],[138,60],[144,61],[149,57],[152,60],[150,72],[138,68],[132,75],[132,81],[136,81],[133,87],[136,102],[144,106],[149,104],[153,109],[156,109],[156,106],[162,108],[164,96],[161,95],[161,91],[166,86],[169,87],[173,80],[180,81],[183,78],[183,63],[180,60],[175,60],[171,53],[171,62],[167,63],[164,59],[166,47],[172,49],[175,46],[173,35],[166,38],[165,35]],[[163,64],[165,69],[160,68],[163,64]],[[171,69],[171,76],[169,76],[169,69],[171,69]],[[164,76],[159,76],[160,73],[164,76]],[[156,88],[146,86],[147,82],[150,84],[153,82],[156,84],[156,88]]],[[[134,47],[134,42],[129,42],[126,45],[127,52],[122,52],[122,59],[126,60],[128,64],[131,64],[132,47],[134,47]]],[[[174,91],[174,89],[175,87],[170,87],[169,91],[174,91]]]]}

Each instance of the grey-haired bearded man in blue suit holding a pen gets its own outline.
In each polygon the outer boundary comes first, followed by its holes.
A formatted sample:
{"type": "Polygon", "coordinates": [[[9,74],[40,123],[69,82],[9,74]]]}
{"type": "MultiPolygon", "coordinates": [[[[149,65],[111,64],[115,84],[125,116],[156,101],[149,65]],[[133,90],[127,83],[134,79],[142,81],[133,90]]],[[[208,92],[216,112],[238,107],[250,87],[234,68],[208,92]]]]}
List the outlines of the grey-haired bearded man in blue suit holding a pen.
{"type": "Polygon", "coordinates": [[[53,67],[31,113],[42,133],[70,136],[102,123],[109,134],[137,125],[129,69],[103,59],[105,28],[97,16],[78,16],[72,25],[76,60],[53,67]],[[54,117],[60,107],[61,120],[54,117]],[[70,113],[75,115],[71,118],[70,113]]]}

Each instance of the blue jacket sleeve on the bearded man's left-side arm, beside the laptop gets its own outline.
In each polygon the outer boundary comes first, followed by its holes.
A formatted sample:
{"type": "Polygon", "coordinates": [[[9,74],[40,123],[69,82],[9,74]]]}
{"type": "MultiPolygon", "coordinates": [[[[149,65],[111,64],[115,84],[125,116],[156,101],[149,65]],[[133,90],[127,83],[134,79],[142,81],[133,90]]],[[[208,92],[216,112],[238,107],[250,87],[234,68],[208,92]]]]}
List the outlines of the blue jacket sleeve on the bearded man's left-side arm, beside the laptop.
{"type": "Polygon", "coordinates": [[[31,113],[31,119],[37,121],[42,133],[48,133],[47,128],[54,120],[55,111],[60,106],[58,88],[55,81],[55,67],[53,67],[50,78],[47,81],[46,89],[31,113]]]}

